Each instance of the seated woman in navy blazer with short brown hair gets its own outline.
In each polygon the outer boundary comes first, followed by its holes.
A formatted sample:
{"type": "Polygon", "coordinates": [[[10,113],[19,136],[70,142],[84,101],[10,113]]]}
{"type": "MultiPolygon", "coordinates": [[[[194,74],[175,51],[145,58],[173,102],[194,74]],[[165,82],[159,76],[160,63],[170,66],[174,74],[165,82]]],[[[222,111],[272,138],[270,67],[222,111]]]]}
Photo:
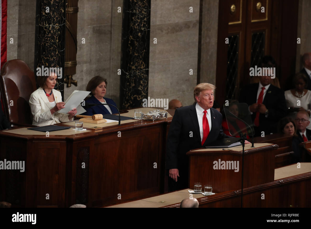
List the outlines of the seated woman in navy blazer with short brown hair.
{"type": "MultiPolygon", "coordinates": [[[[95,103],[95,104],[112,104],[117,106],[117,104],[110,98],[105,98],[106,94],[106,86],[107,86],[107,79],[97,75],[94,76],[86,86],[86,91],[91,91],[92,96],[91,98],[85,101],[86,105],[88,103],[95,103]]],[[[95,115],[95,114],[115,114],[118,113],[118,110],[109,105],[103,106],[93,106],[86,109],[82,115],[95,115]]]]}

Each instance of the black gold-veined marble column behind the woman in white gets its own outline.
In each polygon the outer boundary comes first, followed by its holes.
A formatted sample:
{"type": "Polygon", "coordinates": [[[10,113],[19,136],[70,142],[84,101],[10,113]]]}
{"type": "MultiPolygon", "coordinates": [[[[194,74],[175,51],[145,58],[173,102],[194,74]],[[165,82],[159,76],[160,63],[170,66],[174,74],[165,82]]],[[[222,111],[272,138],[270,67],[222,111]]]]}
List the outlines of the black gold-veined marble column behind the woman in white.
{"type": "MultiPolygon", "coordinates": [[[[35,69],[58,67],[64,73],[66,0],[37,0],[36,7],[35,69]]],[[[63,76],[55,89],[64,97],[63,76]]]]}

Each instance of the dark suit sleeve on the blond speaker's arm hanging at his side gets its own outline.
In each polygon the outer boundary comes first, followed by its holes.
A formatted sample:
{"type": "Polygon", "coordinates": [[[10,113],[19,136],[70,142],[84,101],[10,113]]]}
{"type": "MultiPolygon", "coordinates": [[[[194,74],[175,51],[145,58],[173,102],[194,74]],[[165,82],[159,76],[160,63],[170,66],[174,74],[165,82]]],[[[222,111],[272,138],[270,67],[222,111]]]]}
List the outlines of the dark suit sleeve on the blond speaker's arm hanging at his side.
{"type": "Polygon", "coordinates": [[[166,169],[177,169],[177,154],[182,131],[182,121],[178,109],[175,111],[166,142],[166,169]]]}

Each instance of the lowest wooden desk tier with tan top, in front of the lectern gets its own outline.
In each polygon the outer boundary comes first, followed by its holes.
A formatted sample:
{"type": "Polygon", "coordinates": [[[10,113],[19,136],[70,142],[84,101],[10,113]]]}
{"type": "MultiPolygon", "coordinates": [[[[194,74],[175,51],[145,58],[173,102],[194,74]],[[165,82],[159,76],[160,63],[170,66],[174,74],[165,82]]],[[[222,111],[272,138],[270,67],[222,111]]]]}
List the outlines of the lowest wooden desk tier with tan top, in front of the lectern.
{"type": "MultiPolygon", "coordinates": [[[[115,204],[109,208],[179,208],[180,202],[189,198],[188,190],[155,195],[127,203],[115,204]]],[[[311,207],[311,163],[301,163],[275,169],[274,181],[243,189],[244,208],[310,208],[311,207]],[[264,194],[264,198],[263,195],[264,194]]],[[[214,190],[213,190],[214,192],[214,190]]],[[[214,192],[216,193],[216,192],[214,192]]],[[[239,208],[241,189],[228,190],[211,196],[193,194],[199,208],[239,208]]]]}

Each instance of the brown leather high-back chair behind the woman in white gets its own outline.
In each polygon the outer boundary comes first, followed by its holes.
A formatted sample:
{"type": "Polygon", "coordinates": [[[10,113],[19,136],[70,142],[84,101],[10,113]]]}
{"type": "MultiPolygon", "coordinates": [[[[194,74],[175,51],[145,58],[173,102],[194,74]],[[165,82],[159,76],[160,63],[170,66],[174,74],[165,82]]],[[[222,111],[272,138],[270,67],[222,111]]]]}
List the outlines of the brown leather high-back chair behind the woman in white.
{"type": "Polygon", "coordinates": [[[24,61],[9,60],[2,66],[0,92],[12,127],[33,126],[29,98],[36,89],[35,74],[24,61]]]}

